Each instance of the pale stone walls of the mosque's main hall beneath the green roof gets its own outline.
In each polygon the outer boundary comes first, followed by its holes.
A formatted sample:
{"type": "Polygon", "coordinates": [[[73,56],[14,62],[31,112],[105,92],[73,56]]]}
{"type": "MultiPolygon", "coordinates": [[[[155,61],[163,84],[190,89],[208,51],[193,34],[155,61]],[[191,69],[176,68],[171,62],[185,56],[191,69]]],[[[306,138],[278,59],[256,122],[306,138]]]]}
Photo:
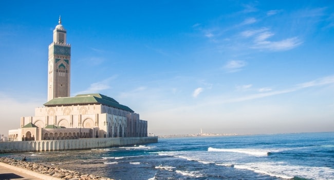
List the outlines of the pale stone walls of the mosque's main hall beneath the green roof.
{"type": "MultiPolygon", "coordinates": [[[[119,110],[100,104],[71,105],[57,107],[38,107],[35,116],[21,117],[21,126],[33,123],[39,128],[47,125],[58,127],[88,128],[93,130],[92,137],[145,137],[147,136],[147,121],[140,120],[139,114],[119,110]]],[[[24,128],[28,131],[27,128],[24,128]]],[[[61,129],[58,131],[64,131],[61,129]]],[[[12,134],[12,140],[22,140],[27,132],[19,129],[16,135],[12,134]]],[[[37,131],[31,132],[35,140],[43,140],[44,134],[37,131]]]]}

